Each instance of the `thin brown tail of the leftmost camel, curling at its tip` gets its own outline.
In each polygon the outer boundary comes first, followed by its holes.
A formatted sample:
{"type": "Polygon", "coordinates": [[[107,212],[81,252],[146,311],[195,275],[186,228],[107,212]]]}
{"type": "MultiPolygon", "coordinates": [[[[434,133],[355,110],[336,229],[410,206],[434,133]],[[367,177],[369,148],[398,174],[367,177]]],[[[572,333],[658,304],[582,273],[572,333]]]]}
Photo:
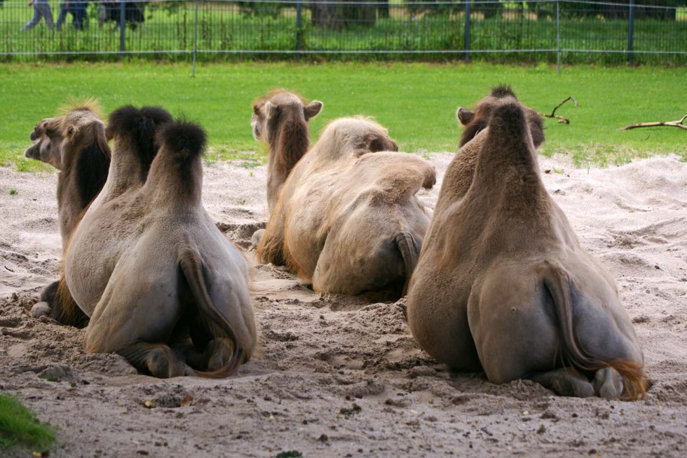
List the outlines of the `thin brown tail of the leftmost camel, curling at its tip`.
{"type": "Polygon", "coordinates": [[[233,342],[233,354],[222,368],[212,372],[196,371],[196,374],[207,378],[229,377],[244,362],[243,344],[241,344],[229,320],[212,302],[203,273],[203,260],[200,258],[200,253],[189,248],[182,250],[179,253],[179,266],[189,284],[193,299],[195,299],[198,314],[203,316],[205,325],[210,330],[212,337],[228,337],[233,342]]]}

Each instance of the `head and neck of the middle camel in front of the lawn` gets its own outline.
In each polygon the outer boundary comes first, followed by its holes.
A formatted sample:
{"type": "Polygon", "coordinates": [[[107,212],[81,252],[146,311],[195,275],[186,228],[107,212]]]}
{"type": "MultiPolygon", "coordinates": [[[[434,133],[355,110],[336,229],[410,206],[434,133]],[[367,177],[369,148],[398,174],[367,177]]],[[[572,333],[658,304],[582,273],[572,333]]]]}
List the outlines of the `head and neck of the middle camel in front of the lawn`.
{"type": "Polygon", "coordinates": [[[310,146],[308,121],[317,116],[322,102],[309,105],[300,95],[275,89],[253,105],[250,126],[255,140],[268,145],[267,208],[272,213],[280,187],[310,146]]]}

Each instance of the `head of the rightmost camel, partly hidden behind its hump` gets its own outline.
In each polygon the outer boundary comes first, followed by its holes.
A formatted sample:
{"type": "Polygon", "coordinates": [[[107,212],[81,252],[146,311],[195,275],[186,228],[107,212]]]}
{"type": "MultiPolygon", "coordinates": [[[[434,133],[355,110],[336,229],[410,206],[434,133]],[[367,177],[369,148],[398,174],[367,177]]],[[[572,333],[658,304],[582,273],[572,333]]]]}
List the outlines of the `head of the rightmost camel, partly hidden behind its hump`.
{"type": "MultiPolygon", "coordinates": [[[[513,97],[517,100],[510,86],[498,86],[491,89],[490,95],[479,100],[474,110],[458,107],[456,118],[458,118],[458,121],[464,126],[461,142],[458,144],[459,148],[463,147],[465,143],[475,138],[479,132],[489,126],[489,119],[498,105],[499,100],[506,97],[513,97]]],[[[544,142],[544,127],[541,117],[531,108],[523,106],[523,109],[532,135],[534,147],[538,148],[539,145],[544,142]]]]}

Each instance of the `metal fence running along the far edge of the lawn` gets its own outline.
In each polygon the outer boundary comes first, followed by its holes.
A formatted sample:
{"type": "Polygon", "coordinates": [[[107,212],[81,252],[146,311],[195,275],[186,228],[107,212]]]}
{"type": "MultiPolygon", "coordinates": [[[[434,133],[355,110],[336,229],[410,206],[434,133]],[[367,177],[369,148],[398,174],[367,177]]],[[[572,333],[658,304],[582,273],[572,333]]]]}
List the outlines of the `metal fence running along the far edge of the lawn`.
{"type": "Polygon", "coordinates": [[[0,0],[0,59],[687,63],[687,0],[0,0]]]}

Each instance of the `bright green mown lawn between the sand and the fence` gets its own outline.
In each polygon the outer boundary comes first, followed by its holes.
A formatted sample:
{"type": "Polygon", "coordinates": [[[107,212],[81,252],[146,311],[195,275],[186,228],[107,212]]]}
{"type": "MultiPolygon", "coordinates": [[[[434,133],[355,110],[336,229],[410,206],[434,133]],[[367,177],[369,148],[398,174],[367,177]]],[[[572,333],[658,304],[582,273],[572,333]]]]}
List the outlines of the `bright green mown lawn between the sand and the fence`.
{"type": "Polygon", "coordinates": [[[161,105],[208,130],[209,160],[262,160],[250,131],[252,102],[278,86],[325,103],[311,122],[313,140],[327,121],[365,114],[387,126],[404,151],[455,151],[456,107],[472,107],[490,86],[509,83],[538,112],[551,112],[569,95],[580,104],[557,111],[569,125],[545,121],[542,154],[570,154],[583,167],[652,154],[687,160],[685,130],[620,130],[680,119],[687,112],[684,67],[564,67],[557,76],[550,66],[240,63],[202,65],[193,78],[187,64],[135,61],[4,64],[0,81],[0,164],[20,170],[36,170],[35,161],[22,158],[34,124],[54,116],[69,97],[97,97],[106,112],[125,104],[161,105]]]}

